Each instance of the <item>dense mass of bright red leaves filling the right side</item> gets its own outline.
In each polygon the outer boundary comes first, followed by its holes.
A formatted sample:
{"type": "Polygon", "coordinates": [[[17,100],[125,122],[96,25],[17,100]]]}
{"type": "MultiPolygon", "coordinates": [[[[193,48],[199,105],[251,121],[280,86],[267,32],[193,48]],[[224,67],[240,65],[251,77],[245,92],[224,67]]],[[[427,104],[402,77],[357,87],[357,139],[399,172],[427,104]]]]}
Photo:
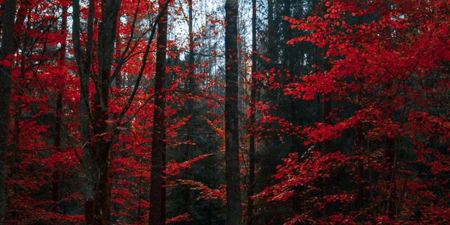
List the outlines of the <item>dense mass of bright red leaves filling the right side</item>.
{"type": "Polygon", "coordinates": [[[257,197],[297,202],[285,224],[449,221],[449,4],[325,1],[326,13],[285,18],[310,32],[288,44],[327,46],[322,57],[331,68],[316,65],[281,88],[304,101],[323,94],[321,101],[333,102],[332,124],[302,127],[304,145],[315,147],[286,158],[274,175],[279,183],[257,197]],[[321,154],[322,141],[346,139],[353,146],[321,154]],[[333,195],[321,195],[326,176],[340,179],[333,195]],[[330,202],[333,216],[322,217],[330,202]]]}

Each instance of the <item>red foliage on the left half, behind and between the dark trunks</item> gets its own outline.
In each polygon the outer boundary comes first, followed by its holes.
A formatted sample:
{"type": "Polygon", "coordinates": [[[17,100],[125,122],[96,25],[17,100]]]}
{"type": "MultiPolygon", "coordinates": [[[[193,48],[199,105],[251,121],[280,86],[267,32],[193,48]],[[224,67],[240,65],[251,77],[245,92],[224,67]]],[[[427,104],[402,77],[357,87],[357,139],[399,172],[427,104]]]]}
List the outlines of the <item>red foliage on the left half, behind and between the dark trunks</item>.
{"type": "MultiPolygon", "coordinates": [[[[115,42],[115,56],[120,58],[120,53],[127,46],[129,34],[149,32],[146,25],[135,27],[131,31],[131,20],[122,23],[128,15],[139,12],[138,20],[148,20],[148,15],[158,13],[158,1],[122,1],[120,20],[115,42]],[[139,10],[139,8],[141,8],[139,10]],[[143,8],[146,8],[143,10],[143,8]]],[[[6,208],[6,224],[81,224],[84,221],[82,213],[82,174],[80,161],[82,160],[82,143],[79,134],[79,101],[80,86],[79,76],[76,75],[77,65],[73,60],[72,37],[68,28],[62,30],[62,20],[70,16],[67,7],[71,1],[18,1],[18,13],[16,15],[15,34],[18,39],[18,50],[14,55],[0,61],[1,65],[12,66],[13,91],[11,104],[11,153],[8,154],[8,186],[9,199],[6,208]],[[53,136],[56,133],[55,120],[57,96],[63,93],[63,108],[61,112],[63,141],[56,146],[53,136]],[[58,176],[56,176],[58,174],[58,176]],[[55,191],[53,186],[58,183],[55,191]],[[56,193],[55,193],[56,192],[56,193]],[[58,201],[51,200],[52,194],[58,195],[58,201]],[[76,215],[74,215],[76,214],[76,215]]],[[[101,15],[100,2],[96,2],[96,19],[101,15]]],[[[82,4],[82,23],[86,23],[86,5],[82,4]],[[83,22],[84,21],[84,22],[83,22]]],[[[174,11],[180,14],[181,12],[174,11]]],[[[211,21],[217,23],[217,21],[211,21]]],[[[70,24],[69,24],[70,26],[70,24]]],[[[70,28],[69,28],[70,29],[70,28]]],[[[94,39],[98,34],[94,27],[94,39]]],[[[86,35],[86,32],[84,32],[86,35]]],[[[82,39],[82,46],[86,37],[82,39]]],[[[176,40],[181,42],[180,40],[176,40]]],[[[172,46],[176,43],[169,41],[172,46]]],[[[122,66],[116,82],[110,85],[110,103],[108,111],[108,125],[117,124],[117,115],[120,113],[131,92],[134,75],[139,73],[141,58],[146,48],[147,40],[139,39],[127,55],[127,61],[122,66]]],[[[180,44],[180,43],[179,43],[180,44]]],[[[181,43],[183,45],[183,43],[181,43]]],[[[94,44],[93,57],[97,57],[94,44]]],[[[150,50],[155,50],[155,44],[150,50]]],[[[169,53],[176,57],[177,52],[169,53]]],[[[143,199],[146,184],[150,184],[150,157],[151,157],[151,125],[153,118],[154,89],[150,86],[153,79],[154,60],[153,53],[148,57],[141,88],[137,90],[136,98],[131,103],[129,110],[124,115],[124,120],[118,124],[120,134],[113,137],[110,132],[96,136],[95,138],[115,139],[115,144],[110,152],[110,184],[112,216],[113,218],[137,218],[139,222],[145,219],[148,211],[148,202],[143,199]],[[120,210],[117,210],[120,209],[120,210]]],[[[96,69],[98,65],[94,63],[96,69]]],[[[207,63],[202,63],[207,67],[207,63]]],[[[113,68],[117,63],[113,63],[113,68]]],[[[214,94],[200,94],[192,96],[179,91],[179,83],[186,81],[187,72],[178,67],[167,68],[167,72],[176,72],[178,77],[172,79],[169,89],[165,90],[165,98],[172,101],[172,105],[182,105],[188,98],[197,101],[205,99],[210,108],[217,107],[219,96],[214,94]]],[[[204,73],[196,74],[196,79],[207,81],[204,73]]],[[[89,93],[92,98],[96,91],[94,77],[91,77],[89,93]]],[[[217,81],[207,81],[214,86],[217,81]]],[[[91,99],[93,101],[93,99],[91,99]]],[[[91,105],[91,110],[94,108],[91,105]]],[[[174,115],[178,106],[166,108],[168,117],[174,115]]],[[[91,112],[92,113],[92,112],[91,112]]],[[[167,147],[173,147],[182,143],[176,143],[178,129],[183,126],[186,118],[167,120],[167,147]]],[[[213,123],[210,123],[213,125],[213,123]]],[[[86,143],[90,144],[90,143],[86,143]]],[[[184,143],[193,144],[193,143],[184,143]]],[[[211,154],[209,154],[211,155],[211,154]]],[[[208,155],[200,155],[187,162],[170,162],[167,166],[167,177],[176,176],[181,169],[191,167],[191,164],[208,155]]],[[[172,182],[174,183],[174,182],[172,182]]],[[[172,184],[171,183],[171,184],[172,184]]],[[[148,216],[147,216],[148,217],[148,216]]],[[[182,214],[167,223],[174,221],[189,221],[187,214],[182,214]]]]}

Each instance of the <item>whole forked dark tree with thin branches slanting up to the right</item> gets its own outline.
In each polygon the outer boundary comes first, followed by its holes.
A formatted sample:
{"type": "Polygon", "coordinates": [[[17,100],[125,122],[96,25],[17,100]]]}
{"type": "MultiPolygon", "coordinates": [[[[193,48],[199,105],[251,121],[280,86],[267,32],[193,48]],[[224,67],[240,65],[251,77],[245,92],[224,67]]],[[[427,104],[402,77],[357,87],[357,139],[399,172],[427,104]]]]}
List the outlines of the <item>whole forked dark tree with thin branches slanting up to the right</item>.
{"type": "MultiPolygon", "coordinates": [[[[94,96],[94,111],[92,115],[89,115],[89,92],[83,93],[83,91],[89,90],[89,77],[93,77],[93,71],[91,71],[92,65],[91,60],[93,59],[93,52],[91,50],[92,44],[94,43],[94,35],[93,35],[93,21],[94,21],[94,1],[90,1],[89,3],[89,16],[88,16],[88,32],[87,32],[87,41],[86,41],[86,53],[82,58],[81,46],[79,44],[79,4],[78,1],[74,2],[74,27],[73,27],[73,35],[74,35],[74,49],[75,49],[75,57],[77,58],[78,71],[80,74],[81,86],[82,86],[82,101],[80,101],[80,113],[82,115],[81,122],[81,131],[82,136],[87,136],[87,142],[84,143],[90,146],[86,146],[83,150],[83,158],[82,164],[84,165],[84,176],[86,176],[86,186],[84,191],[84,198],[86,199],[85,203],[85,213],[86,213],[86,223],[90,224],[90,221],[94,224],[106,224],[109,221],[110,217],[110,184],[108,181],[108,162],[110,156],[110,149],[114,145],[115,138],[123,126],[124,122],[122,122],[125,113],[131,107],[131,103],[134,101],[134,97],[136,95],[136,91],[139,88],[139,84],[141,81],[141,77],[143,75],[144,68],[146,68],[146,60],[149,53],[150,45],[153,39],[153,35],[155,34],[155,24],[150,33],[150,38],[146,45],[146,51],[143,56],[141,69],[139,70],[139,74],[136,79],[136,83],[134,85],[134,89],[131,92],[131,96],[127,101],[127,104],[124,105],[124,108],[120,111],[115,119],[114,129],[110,130],[108,128],[108,120],[110,118],[110,112],[108,112],[109,108],[109,96],[110,96],[110,74],[111,68],[113,65],[113,53],[114,53],[114,45],[116,39],[116,31],[117,31],[117,16],[119,15],[121,1],[102,1],[101,2],[101,11],[102,17],[100,22],[98,23],[98,39],[97,41],[97,55],[96,55],[96,63],[98,63],[98,70],[96,72],[96,79],[94,79],[95,86],[95,96],[94,96]],[[90,75],[90,76],[89,76],[90,75]],[[86,121],[86,117],[88,120],[86,121]],[[89,122],[91,122],[92,126],[92,135],[89,134],[89,122]],[[86,124],[87,123],[87,124],[86,124]],[[91,149],[90,149],[91,148],[91,149]],[[92,197],[91,197],[92,195],[92,197]],[[93,213],[93,214],[91,214],[93,213]]],[[[165,12],[167,5],[161,5],[161,11],[156,18],[156,23],[158,20],[162,18],[163,13],[165,12]]],[[[138,2],[139,5],[139,2],[138,2]]],[[[136,10],[134,15],[134,21],[131,25],[131,37],[127,43],[126,49],[124,49],[122,56],[120,56],[117,67],[114,70],[113,77],[117,77],[118,72],[122,68],[122,65],[125,62],[125,57],[129,57],[131,53],[129,53],[129,44],[133,38],[133,29],[136,23],[136,16],[139,11],[136,10]],[[128,54],[128,56],[126,56],[128,54]]],[[[164,29],[162,29],[164,30],[164,29]]],[[[160,31],[162,31],[160,30],[160,31]]],[[[134,50],[134,47],[133,47],[134,50]]],[[[158,68],[158,67],[157,67],[158,68]]],[[[165,68],[158,69],[164,71],[165,68]]],[[[162,94],[156,92],[156,94],[162,94]]],[[[162,119],[162,122],[164,119],[162,119]]],[[[162,134],[162,133],[161,133],[162,134]]],[[[164,135],[164,134],[162,134],[164,135]]],[[[83,140],[84,138],[82,138],[83,140]]],[[[158,139],[162,141],[162,139],[158,139]]],[[[160,147],[160,146],[158,146],[160,147]]],[[[158,152],[158,151],[155,151],[158,152]]],[[[160,169],[162,172],[162,169],[160,169]]]]}

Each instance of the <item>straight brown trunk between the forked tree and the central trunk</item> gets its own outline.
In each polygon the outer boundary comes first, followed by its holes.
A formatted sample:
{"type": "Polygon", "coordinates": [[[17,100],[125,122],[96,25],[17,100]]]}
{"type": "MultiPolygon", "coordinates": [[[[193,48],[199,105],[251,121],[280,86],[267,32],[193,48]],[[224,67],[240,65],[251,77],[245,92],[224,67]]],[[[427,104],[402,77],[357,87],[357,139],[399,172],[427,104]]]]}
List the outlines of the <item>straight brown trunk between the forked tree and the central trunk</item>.
{"type": "MultiPolygon", "coordinates": [[[[164,0],[159,2],[163,9],[164,0]]],[[[167,48],[167,11],[164,12],[158,23],[158,39],[156,46],[156,72],[155,72],[155,107],[153,112],[153,141],[150,169],[150,225],[165,224],[165,188],[163,168],[165,167],[165,72],[166,72],[166,48],[167,48]]]]}

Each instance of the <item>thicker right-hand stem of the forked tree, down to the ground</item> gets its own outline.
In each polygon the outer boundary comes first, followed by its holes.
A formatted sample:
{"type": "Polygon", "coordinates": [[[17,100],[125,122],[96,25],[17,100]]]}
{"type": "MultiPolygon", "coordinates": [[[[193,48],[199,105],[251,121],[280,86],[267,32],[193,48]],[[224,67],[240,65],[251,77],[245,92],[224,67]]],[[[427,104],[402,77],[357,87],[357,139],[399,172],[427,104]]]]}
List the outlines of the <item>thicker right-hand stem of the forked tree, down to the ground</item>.
{"type": "Polygon", "coordinates": [[[94,99],[92,138],[94,149],[94,225],[106,225],[110,218],[111,188],[108,181],[108,161],[110,140],[103,136],[108,133],[108,107],[110,97],[111,65],[113,64],[114,43],[117,30],[121,0],[101,1],[102,18],[98,23],[97,57],[98,70],[94,81],[96,95],[94,99]]]}

